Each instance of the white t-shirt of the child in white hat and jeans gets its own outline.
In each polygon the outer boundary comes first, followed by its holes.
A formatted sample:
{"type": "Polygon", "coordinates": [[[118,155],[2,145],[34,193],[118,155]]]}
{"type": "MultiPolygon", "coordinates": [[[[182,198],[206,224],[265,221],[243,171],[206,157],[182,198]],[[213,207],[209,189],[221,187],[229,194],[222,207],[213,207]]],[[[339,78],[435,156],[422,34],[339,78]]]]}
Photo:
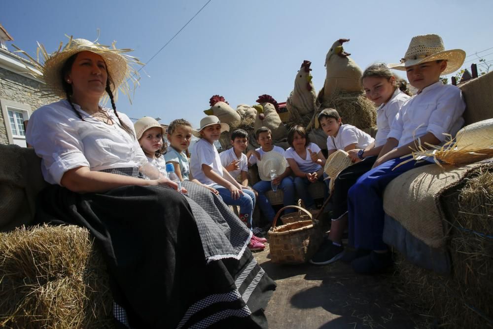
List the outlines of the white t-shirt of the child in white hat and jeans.
{"type": "Polygon", "coordinates": [[[215,173],[222,177],[221,158],[219,157],[217,149],[214,145],[202,138],[195,143],[193,147],[190,156],[190,172],[194,179],[204,185],[212,186],[216,184],[204,174],[204,171],[202,170],[203,164],[211,167],[215,173]]]}

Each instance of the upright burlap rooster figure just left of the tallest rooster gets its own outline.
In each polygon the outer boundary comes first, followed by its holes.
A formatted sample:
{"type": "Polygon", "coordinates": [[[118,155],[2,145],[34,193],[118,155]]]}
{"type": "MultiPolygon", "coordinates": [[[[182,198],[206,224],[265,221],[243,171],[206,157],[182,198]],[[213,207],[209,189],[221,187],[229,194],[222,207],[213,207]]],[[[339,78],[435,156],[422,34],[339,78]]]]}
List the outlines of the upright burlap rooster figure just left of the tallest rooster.
{"type": "Polygon", "coordinates": [[[292,113],[293,118],[315,111],[317,93],[312,82],[313,76],[310,74],[310,71],[312,71],[310,69],[311,64],[312,62],[310,61],[303,61],[294,79],[294,89],[287,99],[286,108],[289,113],[292,113]]]}

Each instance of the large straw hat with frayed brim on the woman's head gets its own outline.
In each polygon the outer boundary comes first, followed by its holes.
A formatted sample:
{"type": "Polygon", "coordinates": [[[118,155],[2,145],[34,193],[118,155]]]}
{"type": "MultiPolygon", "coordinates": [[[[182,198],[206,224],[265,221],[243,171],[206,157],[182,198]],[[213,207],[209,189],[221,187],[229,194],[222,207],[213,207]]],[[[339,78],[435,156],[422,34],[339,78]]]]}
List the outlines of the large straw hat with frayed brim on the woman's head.
{"type": "MultiPolygon", "coordinates": [[[[68,37],[68,36],[67,36],[68,37]]],[[[115,99],[117,98],[118,89],[129,97],[130,91],[135,90],[135,87],[139,84],[139,73],[133,67],[134,65],[144,65],[138,58],[126,55],[124,53],[130,52],[133,49],[117,49],[115,47],[115,41],[111,46],[102,45],[96,41],[91,42],[86,39],[74,39],[69,37],[69,41],[63,47],[63,42],[60,42],[60,46],[57,51],[48,54],[42,44],[38,43],[37,54],[38,58],[35,60],[29,56],[25,51],[19,49],[13,45],[19,52],[29,58],[31,64],[35,67],[32,70],[26,67],[30,74],[36,78],[43,80],[46,85],[43,86],[45,96],[55,95],[62,99],[67,97],[62,84],[61,71],[62,68],[70,58],[70,56],[79,53],[81,51],[91,51],[103,57],[106,63],[106,69],[114,82],[114,88],[112,90],[115,99]],[[41,53],[44,63],[39,63],[39,53],[41,53]],[[39,74],[39,72],[41,74],[39,74]],[[133,82],[133,87],[130,87],[129,81],[133,82]]]]}

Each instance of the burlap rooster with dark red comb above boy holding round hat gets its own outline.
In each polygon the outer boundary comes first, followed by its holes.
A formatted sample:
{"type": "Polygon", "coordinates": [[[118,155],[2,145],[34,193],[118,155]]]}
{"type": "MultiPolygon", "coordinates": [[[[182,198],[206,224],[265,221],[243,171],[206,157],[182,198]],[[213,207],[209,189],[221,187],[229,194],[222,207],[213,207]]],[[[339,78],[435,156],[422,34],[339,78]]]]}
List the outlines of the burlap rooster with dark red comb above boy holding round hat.
{"type": "Polygon", "coordinates": [[[279,117],[279,105],[277,101],[270,95],[264,94],[258,97],[257,103],[261,105],[256,106],[257,116],[255,117],[255,131],[260,127],[267,127],[272,132],[272,139],[274,141],[280,141],[287,136],[286,126],[279,117]]]}

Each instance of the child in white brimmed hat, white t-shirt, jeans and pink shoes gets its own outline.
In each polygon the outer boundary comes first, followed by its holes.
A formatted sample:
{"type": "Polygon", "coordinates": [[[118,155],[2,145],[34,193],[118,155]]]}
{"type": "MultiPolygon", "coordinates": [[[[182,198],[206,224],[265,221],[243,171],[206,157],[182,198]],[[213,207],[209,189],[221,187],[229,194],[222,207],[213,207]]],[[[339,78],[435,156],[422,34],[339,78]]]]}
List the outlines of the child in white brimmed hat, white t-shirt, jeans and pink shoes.
{"type": "MultiPolygon", "coordinates": [[[[240,206],[240,219],[252,230],[252,214],[255,207],[255,194],[252,190],[238,183],[223,167],[219,152],[214,142],[219,140],[221,133],[229,131],[229,125],[223,123],[215,115],[208,115],[200,120],[200,129],[193,132],[200,138],[190,156],[192,176],[200,183],[211,186],[219,191],[219,195],[227,205],[240,206]]],[[[251,235],[248,248],[262,250],[265,238],[251,235]]]]}

